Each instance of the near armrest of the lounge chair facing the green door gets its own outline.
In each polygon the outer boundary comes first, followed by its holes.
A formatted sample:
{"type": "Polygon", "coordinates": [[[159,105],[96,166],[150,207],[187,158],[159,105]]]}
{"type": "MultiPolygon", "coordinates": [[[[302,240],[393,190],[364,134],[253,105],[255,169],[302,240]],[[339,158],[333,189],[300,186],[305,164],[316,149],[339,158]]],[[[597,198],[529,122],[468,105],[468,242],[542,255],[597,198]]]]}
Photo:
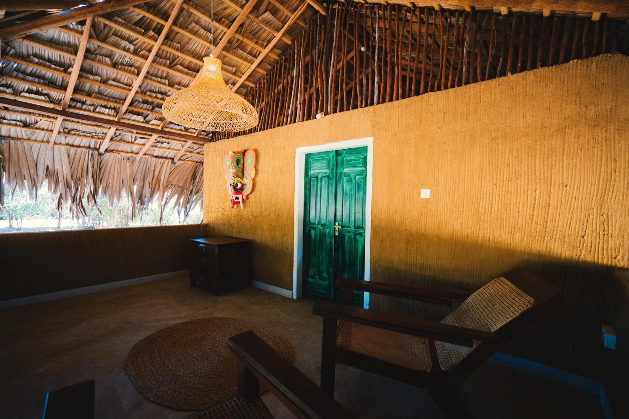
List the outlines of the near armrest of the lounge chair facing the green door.
{"type": "Polygon", "coordinates": [[[492,344],[504,342],[504,338],[496,335],[496,333],[447,325],[437,321],[394,315],[382,311],[365,310],[364,308],[331,303],[330,301],[317,301],[315,306],[313,306],[313,314],[470,348],[473,347],[472,340],[481,340],[482,342],[492,344]]]}

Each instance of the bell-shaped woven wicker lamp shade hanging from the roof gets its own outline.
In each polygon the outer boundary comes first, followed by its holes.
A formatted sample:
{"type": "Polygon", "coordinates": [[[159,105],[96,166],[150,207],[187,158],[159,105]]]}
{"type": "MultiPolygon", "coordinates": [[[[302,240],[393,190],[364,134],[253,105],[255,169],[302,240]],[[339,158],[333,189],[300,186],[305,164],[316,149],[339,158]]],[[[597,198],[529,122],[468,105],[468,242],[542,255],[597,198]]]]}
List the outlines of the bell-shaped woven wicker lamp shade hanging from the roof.
{"type": "Polygon", "coordinates": [[[192,84],[166,99],[165,118],[206,131],[244,131],[258,125],[255,108],[225,84],[221,65],[221,60],[205,57],[192,84]]]}

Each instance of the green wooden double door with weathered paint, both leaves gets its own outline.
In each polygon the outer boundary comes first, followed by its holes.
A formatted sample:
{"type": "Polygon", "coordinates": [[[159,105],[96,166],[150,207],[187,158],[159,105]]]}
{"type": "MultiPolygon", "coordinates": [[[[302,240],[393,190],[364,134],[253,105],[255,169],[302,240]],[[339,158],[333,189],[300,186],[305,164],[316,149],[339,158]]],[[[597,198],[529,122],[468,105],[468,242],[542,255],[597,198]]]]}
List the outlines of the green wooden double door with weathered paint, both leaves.
{"type": "MultiPolygon", "coordinates": [[[[306,155],[304,294],[333,299],[334,272],[364,279],[367,147],[306,155]]],[[[362,293],[354,294],[362,306],[362,293]]]]}

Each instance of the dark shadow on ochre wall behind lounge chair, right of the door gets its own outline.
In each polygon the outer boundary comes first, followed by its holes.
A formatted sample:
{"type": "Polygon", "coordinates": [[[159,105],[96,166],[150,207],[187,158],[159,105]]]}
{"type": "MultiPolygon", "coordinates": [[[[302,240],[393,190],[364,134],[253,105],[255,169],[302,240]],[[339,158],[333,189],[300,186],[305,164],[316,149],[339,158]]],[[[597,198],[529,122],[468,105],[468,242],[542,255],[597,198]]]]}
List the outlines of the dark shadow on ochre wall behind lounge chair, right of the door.
{"type": "MultiPolygon", "coordinates": [[[[571,301],[525,328],[503,352],[594,379],[604,379],[601,325],[610,324],[615,267],[560,260],[520,250],[424,238],[431,249],[418,264],[379,263],[372,251],[371,280],[448,291],[473,292],[511,267],[520,266],[562,289],[571,301]],[[448,255],[443,249],[450,249],[448,255]],[[448,263],[449,260],[449,263],[448,263]],[[435,274],[435,265],[448,265],[435,274]],[[403,268],[401,266],[408,266],[403,268]],[[411,267],[412,266],[412,267],[411,267]]],[[[417,249],[416,249],[417,250],[417,249]]],[[[437,268],[438,271],[438,268],[437,268]]],[[[441,320],[450,309],[404,299],[372,296],[374,310],[441,320]]],[[[628,354],[629,356],[629,354],[628,354]]]]}

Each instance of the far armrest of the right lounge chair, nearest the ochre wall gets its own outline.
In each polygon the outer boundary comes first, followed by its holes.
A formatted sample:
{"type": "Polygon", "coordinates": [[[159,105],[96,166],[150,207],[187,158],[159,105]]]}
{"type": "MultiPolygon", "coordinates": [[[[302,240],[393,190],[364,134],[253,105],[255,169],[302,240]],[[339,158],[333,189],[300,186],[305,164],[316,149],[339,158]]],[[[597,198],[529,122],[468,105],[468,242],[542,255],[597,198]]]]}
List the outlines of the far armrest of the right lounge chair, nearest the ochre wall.
{"type": "Polygon", "coordinates": [[[386,284],[384,282],[359,281],[358,279],[339,278],[335,285],[341,288],[355,289],[356,291],[367,291],[391,297],[424,301],[426,303],[440,304],[452,307],[452,300],[464,300],[470,294],[452,293],[450,291],[438,291],[435,289],[416,288],[404,285],[386,284]]]}

